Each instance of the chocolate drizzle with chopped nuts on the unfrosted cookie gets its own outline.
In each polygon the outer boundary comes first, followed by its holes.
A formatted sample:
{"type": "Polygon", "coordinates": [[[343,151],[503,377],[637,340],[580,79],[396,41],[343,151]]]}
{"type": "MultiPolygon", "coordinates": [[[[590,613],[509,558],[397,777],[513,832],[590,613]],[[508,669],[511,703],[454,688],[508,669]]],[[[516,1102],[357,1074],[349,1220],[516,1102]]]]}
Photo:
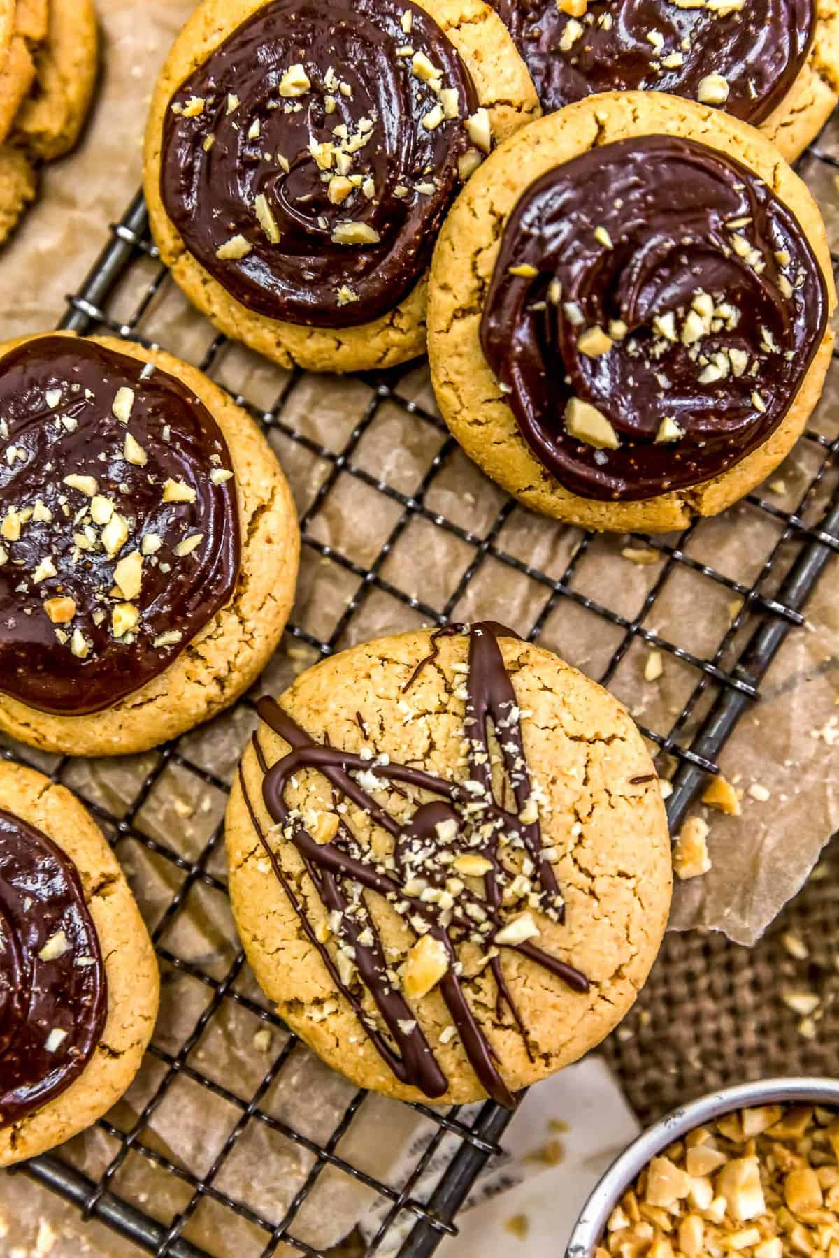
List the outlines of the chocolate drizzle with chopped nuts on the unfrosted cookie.
{"type": "MultiPolygon", "coordinates": [[[[498,645],[499,637],[518,635],[494,621],[474,624],[470,629],[463,625],[439,629],[431,637],[431,654],[420,662],[404,691],[409,691],[421,671],[436,658],[440,638],[464,633],[469,634],[469,662],[464,718],[468,779],[463,782],[438,777],[413,765],[392,764],[387,757],[369,755],[365,759],[338,747],[319,746],[273,699],[259,703],[263,721],[292,747],[269,767],[259,735],[254,735],[257,757],[265,775],[264,803],[283,837],[301,854],[328,911],[332,951],[316,933],[269,837],[260,829],[242,770],[239,780],[274,874],[308,940],[395,1077],[431,1098],[448,1089],[447,1077],[409,1004],[408,977],[400,986],[399,976],[385,959],[365,891],[377,892],[387,899],[416,932],[418,942],[408,955],[406,966],[419,950],[423,961],[436,967],[439,990],[483,1088],[499,1105],[513,1107],[516,1097],[499,1074],[492,1044],[464,993],[458,946],[470,941],[486,950],[498,989],[497,1018],[502,1020],[504,1006],[509,1010],[528,1054],[527,1030],[504,977],[501,952],[504,949],[517,951],[574,991],[587,991],[589,982],[579,970],[552,957],[535,942],[540,932],[532,915],[517,912],[514,907],[537,908],[553,922],[562,922],[565,917],[551,864],[553,853],[542,842],[516,692],[498,645]],[[491,725],[506,771],[501,800],[492,781],[491,725]],[[380,860],[362,848],[343,818],[330,842],[316,842],[299,810],[289,809],[286,803],[289,781],[304,769],[322,772],[336,800],[348,800],[369,811],[392,840],[390,858],[380,860]],[[392,785],[394,790],[410,788],[435,798],[418,803],[410,821],[400,825],[370,794],[377,780],[399,784],[399,788],[392,785]],[[508,793],[514,808],[508,806],[508,793]],[[483,894],[474,893],[463,878],[453,879],[458,871],[482,877],[483,894]],[[362,1006],[361,986],[372,996],[381,1028],[362,1006]]],[[[358,721],[364,728],[361,717],[358,721]]]]}

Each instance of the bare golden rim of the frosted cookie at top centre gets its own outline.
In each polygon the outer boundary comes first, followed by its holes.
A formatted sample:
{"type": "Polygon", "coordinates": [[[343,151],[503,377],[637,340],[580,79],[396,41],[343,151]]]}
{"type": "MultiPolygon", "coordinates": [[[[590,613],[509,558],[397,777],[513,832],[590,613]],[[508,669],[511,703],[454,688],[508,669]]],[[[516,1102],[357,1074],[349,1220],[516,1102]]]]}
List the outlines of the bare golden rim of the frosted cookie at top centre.
{"type": "MultiPolygon", "coordinates": [[[[244,21],[268,8],[264,0],[204,0],[164,67],[152,99],[143,164],[151,225],[161,255],[186,296],[216,327],[284,367],[297,365],[313,371],[358,371],[416,357],[425,350],[425,276],[392,309],[370,322],[355,327],[287,322],[258,313],[238,301],[189,253],[166,213],[161,195],[161,162],[172,96],[244,21]]],[[[512,135],[538,114],[536,93],[525,64],[503,23],[487,4],[482,0],[418,0],[418,8],[435,21],[459,53],[473,81],[478,103],[488,112],[496,141],[512,135]]],[[[335,69],[340,72],[341,68],[335,69]]],[[[268,230],[272,230],[270,221],[268,230]]],[[[351,302],[352,294],[345,293],[342,299],[351,302]]]]}

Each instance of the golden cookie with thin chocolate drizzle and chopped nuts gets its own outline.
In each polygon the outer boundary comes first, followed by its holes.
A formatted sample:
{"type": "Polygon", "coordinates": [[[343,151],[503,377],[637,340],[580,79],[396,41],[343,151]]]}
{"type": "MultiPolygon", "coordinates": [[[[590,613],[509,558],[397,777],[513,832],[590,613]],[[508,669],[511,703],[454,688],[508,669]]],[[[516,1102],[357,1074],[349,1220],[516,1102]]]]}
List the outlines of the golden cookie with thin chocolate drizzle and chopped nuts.
{"type": "Polygon", "coordinates": [[[486,621],[353,647],[259,715],[226,819],[233,910],[330,1066],[512,1106],[626,1013],[672,873],[616,699],[486,621]]]}

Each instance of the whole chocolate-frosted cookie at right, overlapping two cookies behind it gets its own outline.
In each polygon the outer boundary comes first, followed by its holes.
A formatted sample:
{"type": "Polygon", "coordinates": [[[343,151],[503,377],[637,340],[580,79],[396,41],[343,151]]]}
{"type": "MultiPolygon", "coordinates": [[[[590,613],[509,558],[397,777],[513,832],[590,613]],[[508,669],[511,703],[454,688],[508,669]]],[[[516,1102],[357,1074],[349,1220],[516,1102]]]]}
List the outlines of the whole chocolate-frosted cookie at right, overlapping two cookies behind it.
{"type": "Polygon", "coordinates": [[[781,462],[821,390],[835,293],[819,211],[771,143],[609,93],[475,179],[440,235],[429,347],[443,415],[489,476],[546,515],[665,531],[781,462]]]}

